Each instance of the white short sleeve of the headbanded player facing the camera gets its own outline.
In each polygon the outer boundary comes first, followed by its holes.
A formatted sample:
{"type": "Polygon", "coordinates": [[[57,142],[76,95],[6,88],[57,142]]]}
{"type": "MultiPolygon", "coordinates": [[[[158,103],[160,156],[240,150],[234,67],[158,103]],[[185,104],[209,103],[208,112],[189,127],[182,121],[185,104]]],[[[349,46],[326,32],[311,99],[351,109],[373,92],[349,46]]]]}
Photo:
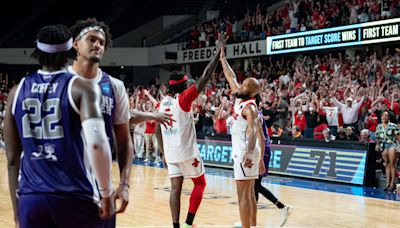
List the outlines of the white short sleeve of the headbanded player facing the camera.
{"type": "Polygon", "coordinates": [[[115,112],[113,115],[114,125],[123,124],[129,121],[129,99],[125,92],[124,83],[121,80],[110,77],[115,96],[115,112]]]}

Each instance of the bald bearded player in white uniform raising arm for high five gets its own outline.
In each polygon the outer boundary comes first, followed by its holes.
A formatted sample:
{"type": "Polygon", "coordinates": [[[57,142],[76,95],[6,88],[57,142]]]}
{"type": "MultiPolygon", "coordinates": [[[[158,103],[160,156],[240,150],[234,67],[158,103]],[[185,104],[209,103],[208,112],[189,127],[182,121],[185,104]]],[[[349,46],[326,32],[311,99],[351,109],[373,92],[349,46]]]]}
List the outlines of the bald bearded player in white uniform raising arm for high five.
{"type": "Polygon", "coordinates": [[[232,93],[236,96],[234,106],[234,119],[232,121],[232,158],[233,170],[237,186],[239,200],[239,212],[242,227],[256,227],[257,203],[254,193],[254,181],[259,174],[265,172],[265,166],[261,154],[264,152],[258,123],[258,109],[256,95],[261,86],[257,79],[246,78],[239,85],[236,75],[229,66],[225,53],[222,50],[220,61],[232,93]]]}

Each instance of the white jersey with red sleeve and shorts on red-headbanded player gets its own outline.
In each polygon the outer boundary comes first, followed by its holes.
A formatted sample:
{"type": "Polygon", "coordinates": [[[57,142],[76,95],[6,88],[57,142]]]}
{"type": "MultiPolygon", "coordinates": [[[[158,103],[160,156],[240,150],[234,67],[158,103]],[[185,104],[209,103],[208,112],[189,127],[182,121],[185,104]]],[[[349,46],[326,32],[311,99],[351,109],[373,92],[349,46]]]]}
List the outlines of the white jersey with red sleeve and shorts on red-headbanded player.
{"type": "Polygon", "coordinates": [[[192,102],[199,95],[195,85],[181,94],[166,96],[160,103],[160,112],[171,114],[172,127],[161,125],[164,156],[170,177],[197,177],[204,173],[203,161],[197,147],[192,102]],[[194,170],[188,170],[191,169],[194,170]]]}

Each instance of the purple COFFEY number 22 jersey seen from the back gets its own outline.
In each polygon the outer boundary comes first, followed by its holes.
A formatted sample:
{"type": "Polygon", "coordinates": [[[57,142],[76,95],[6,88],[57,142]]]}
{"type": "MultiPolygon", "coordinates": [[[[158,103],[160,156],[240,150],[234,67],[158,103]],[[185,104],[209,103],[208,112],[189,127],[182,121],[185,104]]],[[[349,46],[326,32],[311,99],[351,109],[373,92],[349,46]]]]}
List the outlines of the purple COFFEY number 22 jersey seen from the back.
{"type": "Polygon", "coordinates": [[[39,70],[20,82],[12,113],[23,154],[19,194],[52,193],[98,200],[66,71],[39,70]]]}

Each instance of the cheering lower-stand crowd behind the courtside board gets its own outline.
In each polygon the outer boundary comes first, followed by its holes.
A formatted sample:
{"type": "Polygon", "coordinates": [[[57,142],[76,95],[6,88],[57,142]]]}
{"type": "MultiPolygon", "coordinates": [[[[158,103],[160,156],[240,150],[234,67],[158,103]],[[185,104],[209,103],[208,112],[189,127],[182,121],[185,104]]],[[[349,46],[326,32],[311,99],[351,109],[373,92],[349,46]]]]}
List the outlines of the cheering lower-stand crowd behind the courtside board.
{"type": "MultiPolygon", "coordinates": [[[[264,60],[233,68],[239,82],[248,76],[261,82],[259,110],[270,136],[368,142],[376,139],[383,112],[400,122],[400,49],[382,56],[337,52],[264,60]]],[[[160,82],[131,88],[131,108],[153,109],[164,94],[160,82]]],[[[215,73],[193,104],[197,131],[229,134],[233,103],[223,73],[215,73]]]]}

